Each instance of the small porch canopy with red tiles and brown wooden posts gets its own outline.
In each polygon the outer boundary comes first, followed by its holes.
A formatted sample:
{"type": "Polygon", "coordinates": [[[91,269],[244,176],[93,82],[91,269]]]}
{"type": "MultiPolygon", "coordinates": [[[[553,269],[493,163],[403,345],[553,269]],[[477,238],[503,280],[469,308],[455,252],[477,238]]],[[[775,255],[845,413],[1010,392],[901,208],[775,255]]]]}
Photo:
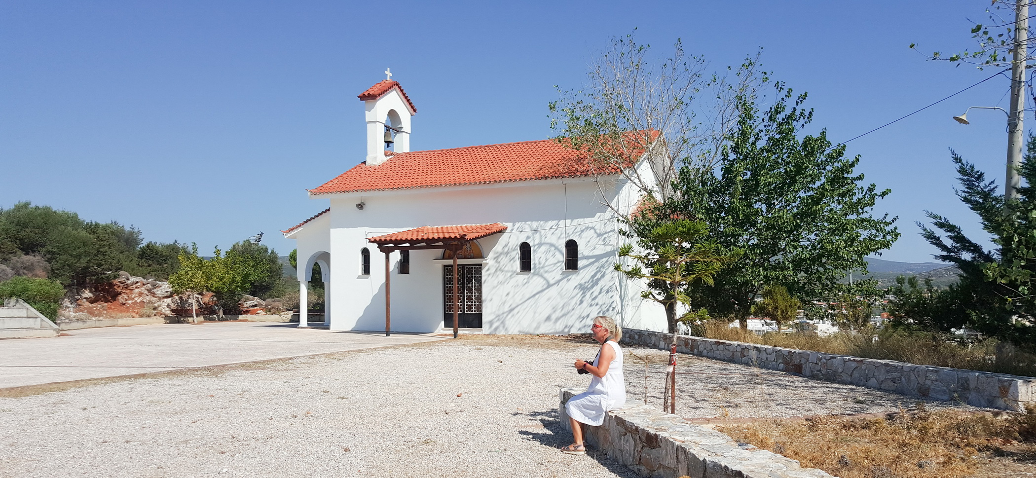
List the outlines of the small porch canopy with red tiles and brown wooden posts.
{"type": "Polygon", "coordinates": [[[392,334],[392,298],[390,296],[390,284],[392,277],[392,264],[388,255],[395,251],[413,251],[422,249],[444,249],[453,251],[453,310],[454,310],[454,338],[457,338],[459,312],[458,307],[458,284],[457,284],[457,255],[471,241],[485,237],[487,235],[503,232],[508,226],[500,223],[492,224],[466,224],[459,226],[423,226],[405,231],[393,232],[391,234],[370,237],[367,241],[378,247],[378,250],[385,254],[385,336],[392,334]]]}

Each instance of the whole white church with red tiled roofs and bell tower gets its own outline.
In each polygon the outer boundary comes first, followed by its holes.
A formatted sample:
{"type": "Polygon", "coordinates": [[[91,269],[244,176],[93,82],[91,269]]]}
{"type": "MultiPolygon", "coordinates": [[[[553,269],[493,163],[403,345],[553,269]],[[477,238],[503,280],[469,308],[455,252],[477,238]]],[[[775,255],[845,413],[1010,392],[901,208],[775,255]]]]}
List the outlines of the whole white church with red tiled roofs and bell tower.
{"type": "MultiPolygon", "coordinates": [[[[623,174],[592,171],[554,140],[412,151],[418,110],[399,82],[358,97],[366,161],[309,190],[330,207],[283,231],[297,245],[301,304],[320,266],[323,326],[429,333],[456,315],[486,334],[569,334],[609,315],[665,330],[642,284],[614,271],[629,242],[616,210],[638,200],[623,174]]],[[[319,325],[301,309],[299,327],[319,325]]]]}

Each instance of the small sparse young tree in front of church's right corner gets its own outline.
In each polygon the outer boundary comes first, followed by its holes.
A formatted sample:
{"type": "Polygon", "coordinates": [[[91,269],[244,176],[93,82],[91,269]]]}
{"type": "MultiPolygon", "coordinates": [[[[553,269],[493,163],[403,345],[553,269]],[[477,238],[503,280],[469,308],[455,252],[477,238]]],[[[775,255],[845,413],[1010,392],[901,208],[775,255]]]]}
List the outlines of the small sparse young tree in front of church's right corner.
{"type": "MultiPolygon", "coordinates": [[[[630,280],[646,280],[648,289],[640,293],[661,304],[669,332],[675,333],[682,317],[677,316],[677,304],[692,309],[685,288],[689,284],[711,285],[713,276],[737,260],[740,251],[725,251],[709,238],[709,228],[701,222],[675,220],[631,222],[630,233],[636,237],[636,248],[627,244],[618,249],[618,257],[632,259],[632,265],[615,264],[615,271],[630,280]],[[646,224],[645,224],[646,223],[646,224]]],[[[708,317],[707,310],[690,313],[685,318],[708,317]]]]}

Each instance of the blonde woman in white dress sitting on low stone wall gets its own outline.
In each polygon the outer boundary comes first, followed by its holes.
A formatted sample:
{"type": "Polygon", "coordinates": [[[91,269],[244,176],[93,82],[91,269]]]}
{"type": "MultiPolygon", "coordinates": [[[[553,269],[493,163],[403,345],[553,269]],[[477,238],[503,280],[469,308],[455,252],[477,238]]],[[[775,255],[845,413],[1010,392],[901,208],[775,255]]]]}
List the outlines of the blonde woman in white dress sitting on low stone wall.
{"type": "Polygon", "coordinates": [[[569,422],[572,425],[574,441],[572,445],[563,448],[562,451],[573,455],[586,454],[586,447],[583,446],[582,423],[599,426],[604,423],[604,417],[609,410],[618,409],[626,404],[623,349],[618,346],[623,330],[615,325],[611,317],[600,315],[594,317],[591,332],[594,334],[594,339],[601,343],[601,349],[597,353],[593,364],[576,360],[575,367],[576,370],[589,372],[594,377],[589,381],[589,387],[585,392],[572,397],[565,404],[565,411],[568,413],[569,422]]]}

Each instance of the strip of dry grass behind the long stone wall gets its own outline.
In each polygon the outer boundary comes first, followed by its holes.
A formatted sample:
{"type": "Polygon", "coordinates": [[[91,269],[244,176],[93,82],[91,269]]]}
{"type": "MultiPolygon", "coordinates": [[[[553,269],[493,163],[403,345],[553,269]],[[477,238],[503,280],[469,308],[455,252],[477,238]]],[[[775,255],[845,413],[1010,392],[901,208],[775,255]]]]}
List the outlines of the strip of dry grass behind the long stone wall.
{"type": "Polygon", "coordinates": [[[770,333],[755,335],[723,322],[703,328],[711,339],[758,343],[825,354],[896,360],[918,365],[983,370],[1013,375],[1036,376],[1036,356],[988,339],[965,346],[934,334],[891,330],[858,334],[837,333],[826,337],[813,333],[770,333]]]}

